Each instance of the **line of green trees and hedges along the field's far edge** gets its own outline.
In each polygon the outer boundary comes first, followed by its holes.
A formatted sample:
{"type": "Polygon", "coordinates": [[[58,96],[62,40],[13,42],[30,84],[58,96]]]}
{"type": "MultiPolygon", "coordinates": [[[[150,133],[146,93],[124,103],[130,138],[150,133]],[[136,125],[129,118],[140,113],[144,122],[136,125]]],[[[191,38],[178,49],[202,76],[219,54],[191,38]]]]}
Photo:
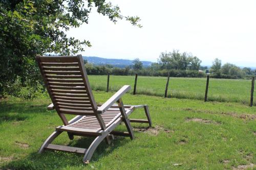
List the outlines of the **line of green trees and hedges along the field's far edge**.
{"type": "Polygon", "coordinates": [[[143,63],[134,59],[132,66],[125,68],[113,67],[112,65],[93,65],[86,61],[86,68],[89,75],[135,75],[141,76],[167,76],[171,77],[205,77],[210,73],[213,78],[241,79],[247,76],[256,75],[256,72],[248,67],[240,67],[226,63],[222,66],[221,60],[215,59],[210,69],[201,66],[201,60],[189,53],[180,53],[178,50],[173,52],[161,53],[158,62],[151,66],[143,67],[143,63]]]}

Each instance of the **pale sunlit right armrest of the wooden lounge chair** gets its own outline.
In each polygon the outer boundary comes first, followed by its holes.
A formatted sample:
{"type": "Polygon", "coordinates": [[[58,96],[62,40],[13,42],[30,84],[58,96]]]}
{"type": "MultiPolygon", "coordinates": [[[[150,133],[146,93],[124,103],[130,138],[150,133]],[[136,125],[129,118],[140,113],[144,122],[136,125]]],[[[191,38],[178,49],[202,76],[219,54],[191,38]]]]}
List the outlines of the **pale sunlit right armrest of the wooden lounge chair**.
{"type": "Polygon", "coordinates": [[[97,113],[101,114],[104,113],[106,110],[108,110],[117,100],[121,98],[123,94],[125,94],[127,91],[131,89],[131,86],[125,85],[120,90],[118,90],[108,101],[106,101],[103,105],[101,105],[97,109],[97,113]]]}

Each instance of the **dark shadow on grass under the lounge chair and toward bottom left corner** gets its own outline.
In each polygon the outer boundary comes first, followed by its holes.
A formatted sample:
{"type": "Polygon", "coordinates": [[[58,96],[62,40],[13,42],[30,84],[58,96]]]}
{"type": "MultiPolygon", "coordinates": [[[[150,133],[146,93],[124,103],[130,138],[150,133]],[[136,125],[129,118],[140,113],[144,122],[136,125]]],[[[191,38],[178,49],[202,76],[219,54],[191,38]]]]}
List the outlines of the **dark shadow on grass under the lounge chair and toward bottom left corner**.
{"type": "MultiPolygon", "coordinates": [[[[65,134],[67,135],[67,134],[65,134]]],[[[69,142],[69,146],[78,148],[89,148],[94,138],[92,137],[80,137],[75,138],[69,142]]],[[[122,147],[130,140],[129,137],[118,137],[118,139],[112,140],[112,143],[106,144],[103,140],[96,151],[93,154],[91,163],[100,160],[111,154],[118,147],[122,147]]],[[[56,143],[63,144],[63,143],[56,143]]],[[[39,149],[39,148],[38,148],[39,149]]],[[[42,154],[33,152],[26,157],[18,158],[4,164],[1,168],[4,169],[62,169],[65,167],[81,167],[87,166],[82,162],[83,154],[68,153],[62,151],[45,151],[42,154]]]]}

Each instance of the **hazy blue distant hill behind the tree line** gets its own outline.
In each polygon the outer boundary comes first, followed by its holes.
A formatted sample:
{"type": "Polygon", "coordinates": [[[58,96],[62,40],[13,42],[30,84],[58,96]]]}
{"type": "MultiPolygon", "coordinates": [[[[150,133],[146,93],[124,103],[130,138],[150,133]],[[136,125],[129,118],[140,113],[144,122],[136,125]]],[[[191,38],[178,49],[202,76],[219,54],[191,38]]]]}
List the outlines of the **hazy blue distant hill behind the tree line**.
{"type": "MultiPolygon", "coordinates": [[[[87,57],[82,56],[84,60],[87,60],[89,63],[93,63],[95,65],[105,65],[111,64],[114,67],[124,68],[125,66],[133,65],[133,60],[125,60],[125,59],[107,59],[100,57],[87,57]]],[[[151,66],[151,61],[141,61],[144,67],[151,66]]]]}

